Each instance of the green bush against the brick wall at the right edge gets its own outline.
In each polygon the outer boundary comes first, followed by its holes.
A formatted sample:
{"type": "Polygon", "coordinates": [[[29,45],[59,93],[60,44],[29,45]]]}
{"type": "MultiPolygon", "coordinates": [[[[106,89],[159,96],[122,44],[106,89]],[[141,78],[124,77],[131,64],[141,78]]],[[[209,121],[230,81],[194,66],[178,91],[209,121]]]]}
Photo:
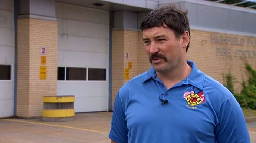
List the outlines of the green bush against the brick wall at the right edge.
{"type": "Polygon", "coordinates": [[[250,64],[246,63],[246,69],[249,72],[249,79],[247,83],[242,83],[243,90],[241,93],[234,91],[234,76],[230,73],[224,74],[224,86],[227,87],[234,95],[240,106],[243,108],[256,109],[256,70],[250,64]]]}

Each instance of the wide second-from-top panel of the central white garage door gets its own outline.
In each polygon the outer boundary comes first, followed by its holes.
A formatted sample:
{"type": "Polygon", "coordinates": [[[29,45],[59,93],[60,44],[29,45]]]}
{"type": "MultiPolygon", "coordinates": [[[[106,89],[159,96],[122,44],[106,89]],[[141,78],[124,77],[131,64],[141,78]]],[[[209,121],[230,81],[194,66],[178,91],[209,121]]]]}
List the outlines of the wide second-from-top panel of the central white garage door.
{"type": "Polygon", "coordinates": [[[73,20],[62,20],[63,34],[86,36],[94,38],[108,38],[109,25],[81,22],[73,20]]]}

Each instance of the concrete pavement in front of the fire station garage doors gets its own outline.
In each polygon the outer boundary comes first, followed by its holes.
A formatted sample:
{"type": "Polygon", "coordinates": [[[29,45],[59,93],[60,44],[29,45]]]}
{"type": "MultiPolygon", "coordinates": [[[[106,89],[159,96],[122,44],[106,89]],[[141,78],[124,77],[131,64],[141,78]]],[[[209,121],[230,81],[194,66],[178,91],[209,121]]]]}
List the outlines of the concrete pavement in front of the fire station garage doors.
{"type": "MultiPolygon", "coordinates": [[[[79,113],[72,122],[43,122],[41,119],[0,119],[0,143],[110,143],[112,113],[79,113]]],[[[247,123],[256,143],[256,122],[247,123]]]]}

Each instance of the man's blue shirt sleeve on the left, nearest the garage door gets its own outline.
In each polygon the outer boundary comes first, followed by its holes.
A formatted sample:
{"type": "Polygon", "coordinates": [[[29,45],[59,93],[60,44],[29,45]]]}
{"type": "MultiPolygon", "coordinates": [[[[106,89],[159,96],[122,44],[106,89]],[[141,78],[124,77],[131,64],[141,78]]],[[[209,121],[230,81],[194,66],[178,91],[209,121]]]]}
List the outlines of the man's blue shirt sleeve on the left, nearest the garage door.
{"type": "Polygon", "coordinates": [[[119,97],[119,93],[116,95],[111,130],[109,132],[109,138],[118,143],[127,143],[127,122],[125,120],[125,110],[119,97]]]}

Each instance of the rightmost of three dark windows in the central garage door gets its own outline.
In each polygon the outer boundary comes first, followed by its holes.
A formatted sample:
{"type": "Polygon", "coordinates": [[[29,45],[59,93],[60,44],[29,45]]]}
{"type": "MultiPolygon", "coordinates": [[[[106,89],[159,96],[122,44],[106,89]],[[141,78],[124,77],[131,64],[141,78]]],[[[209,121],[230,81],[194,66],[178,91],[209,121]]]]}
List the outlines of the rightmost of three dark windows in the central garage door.
{"type": "Polygon", "coordinates": [[[106,69],[88,68],[88,80],[106,80],[106,69]]]}

